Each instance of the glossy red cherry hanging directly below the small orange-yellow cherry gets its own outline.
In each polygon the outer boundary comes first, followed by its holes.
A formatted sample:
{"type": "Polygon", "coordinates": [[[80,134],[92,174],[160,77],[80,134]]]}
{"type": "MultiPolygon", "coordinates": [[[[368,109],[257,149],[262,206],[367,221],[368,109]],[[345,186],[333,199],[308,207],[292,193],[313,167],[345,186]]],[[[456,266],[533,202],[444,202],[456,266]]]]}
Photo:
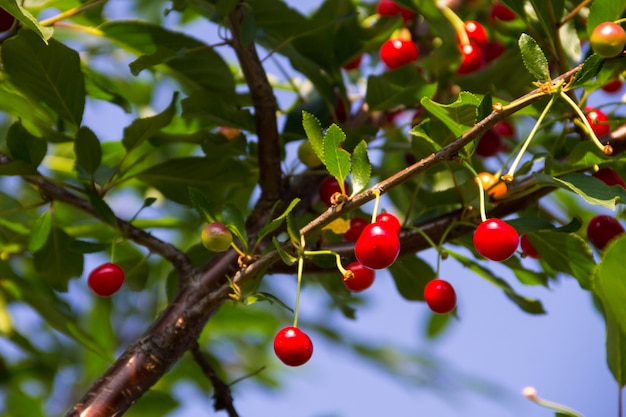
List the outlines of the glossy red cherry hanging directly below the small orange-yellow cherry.
{"type": "Polygon", "coordinates": [[[519,234],[500,219],[487,219],[474,232],[474,248],[487,259],[505,261],[517,250],[519,234]]]}

